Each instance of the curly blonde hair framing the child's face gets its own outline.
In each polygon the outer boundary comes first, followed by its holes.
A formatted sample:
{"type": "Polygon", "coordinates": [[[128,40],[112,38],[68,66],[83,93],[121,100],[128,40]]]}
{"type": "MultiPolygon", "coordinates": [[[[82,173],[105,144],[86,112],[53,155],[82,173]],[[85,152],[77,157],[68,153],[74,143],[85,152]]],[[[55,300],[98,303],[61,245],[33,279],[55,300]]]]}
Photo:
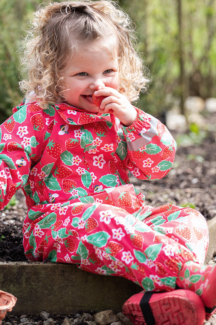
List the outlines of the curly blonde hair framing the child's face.
{"type": "Polygon", "coordinates": [[[108,33],[116,36],[120,93],[131,102],[146,91],[146,68],[135,50],[134,29],[129,16],[109,0],[64,1],[41,6],[34,13],[25,38],[21,61],[28,77],[20,82],[27,98],[46,104],[64,101],[63,71],[80,45],[91,45],[108,33]]]}

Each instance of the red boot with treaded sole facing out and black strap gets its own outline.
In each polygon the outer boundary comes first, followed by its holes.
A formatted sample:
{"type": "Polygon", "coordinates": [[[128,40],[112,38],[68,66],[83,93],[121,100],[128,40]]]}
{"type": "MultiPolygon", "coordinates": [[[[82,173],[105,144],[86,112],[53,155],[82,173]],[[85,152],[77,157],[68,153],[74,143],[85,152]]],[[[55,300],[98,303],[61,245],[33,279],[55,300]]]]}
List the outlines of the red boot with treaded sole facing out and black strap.
{"type": "Polygon", "coordinates": [[[205,307],[190,290],[140,292],[122,307],[134,325],[203,325],[205,307]]]}

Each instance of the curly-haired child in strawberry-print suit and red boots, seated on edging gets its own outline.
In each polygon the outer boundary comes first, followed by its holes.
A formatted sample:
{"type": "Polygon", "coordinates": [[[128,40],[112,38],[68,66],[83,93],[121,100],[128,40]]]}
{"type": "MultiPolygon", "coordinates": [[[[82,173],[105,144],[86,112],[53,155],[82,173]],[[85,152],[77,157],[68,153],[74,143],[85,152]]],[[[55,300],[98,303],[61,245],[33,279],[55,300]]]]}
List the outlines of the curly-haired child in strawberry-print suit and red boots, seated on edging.
{"type": "Polygon", "coordinates": [[[216,305],[204,217],[147,206],[128,179],[162,178],[175,153],[167,128],[131,104],[147,80],[128,16],[109,1],[53,3],[26,39],[27,100],[1,126],[0,154],[1,208],[26,196],[26,257],[139,284],[123,306],[134,324],[202,324],[216,305]]]}

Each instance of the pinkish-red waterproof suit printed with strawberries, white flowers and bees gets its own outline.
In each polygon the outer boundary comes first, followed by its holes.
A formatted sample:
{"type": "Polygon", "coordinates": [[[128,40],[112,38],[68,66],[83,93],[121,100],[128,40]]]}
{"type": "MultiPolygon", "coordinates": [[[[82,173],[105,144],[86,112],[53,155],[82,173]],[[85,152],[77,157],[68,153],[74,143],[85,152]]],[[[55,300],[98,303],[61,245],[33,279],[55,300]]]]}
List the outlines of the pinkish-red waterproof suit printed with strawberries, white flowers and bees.
{"type": "Polygon", "coordinates": [[[113,114],[23,103],[1,125],[1,209],[21,187],[28,259],[76,263],[148,291],[173,290],[186,261],[203,263],[203,216],[147,206],[129,182],[129,171],[143,180],[162,178],[175,154],[167,128],[136,110],[137,119],[125,127],[113,114]]]}

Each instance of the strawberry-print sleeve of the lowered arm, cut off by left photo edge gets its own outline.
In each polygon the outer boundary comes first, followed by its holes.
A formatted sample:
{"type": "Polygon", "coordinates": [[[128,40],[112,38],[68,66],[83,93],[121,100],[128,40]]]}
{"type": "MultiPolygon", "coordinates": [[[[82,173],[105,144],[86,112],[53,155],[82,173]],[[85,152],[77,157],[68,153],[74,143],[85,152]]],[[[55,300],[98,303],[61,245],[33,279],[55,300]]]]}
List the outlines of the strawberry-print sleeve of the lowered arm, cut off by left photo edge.
{"type": "Polygon", "coordinates": [[[47,114],[34,104],[20,105],[0,125],[0,209],[28,180],[40,160],[47,114]]]}

